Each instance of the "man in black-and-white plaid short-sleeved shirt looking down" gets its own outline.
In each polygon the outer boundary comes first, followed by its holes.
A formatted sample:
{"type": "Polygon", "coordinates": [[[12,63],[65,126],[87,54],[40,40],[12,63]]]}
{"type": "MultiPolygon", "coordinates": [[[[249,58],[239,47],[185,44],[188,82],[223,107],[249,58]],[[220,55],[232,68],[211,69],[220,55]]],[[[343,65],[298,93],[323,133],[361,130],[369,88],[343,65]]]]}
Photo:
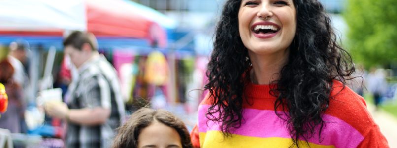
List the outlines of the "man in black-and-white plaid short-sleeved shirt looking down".
{"type": "Polygon", "coordinates": [[[47,103],[45,110],[66,120],[66,148],[108,148],[125,114],[116,71],[99,54],[91,33],[72,32],[64,52],[78,74],[72,76],[66,104],[47,103]]]}

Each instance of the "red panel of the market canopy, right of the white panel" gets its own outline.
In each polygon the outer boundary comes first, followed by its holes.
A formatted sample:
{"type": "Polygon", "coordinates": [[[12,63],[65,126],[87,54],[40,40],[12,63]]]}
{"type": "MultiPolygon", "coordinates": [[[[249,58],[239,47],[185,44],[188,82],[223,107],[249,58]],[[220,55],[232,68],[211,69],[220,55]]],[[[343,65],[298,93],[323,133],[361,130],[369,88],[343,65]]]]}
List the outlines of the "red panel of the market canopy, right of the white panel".
{"type": "Polygon", "coordinates": [[[153,23],[138,14],[126,13],[120,0],[86,0],[87,29],[96,36],[147,38],[153,23]]]}

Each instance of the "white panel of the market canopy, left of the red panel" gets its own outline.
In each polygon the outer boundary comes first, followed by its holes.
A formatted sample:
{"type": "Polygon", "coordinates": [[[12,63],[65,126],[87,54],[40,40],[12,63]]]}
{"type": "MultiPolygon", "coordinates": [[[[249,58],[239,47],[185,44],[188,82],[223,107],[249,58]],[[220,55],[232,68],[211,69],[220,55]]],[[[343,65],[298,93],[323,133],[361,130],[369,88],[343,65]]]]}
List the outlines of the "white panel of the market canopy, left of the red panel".
{"type": "Polygon", "coordinates": [[[86,30],[81,0],[0,0],[0,33],[60,34],[86,30]]]}

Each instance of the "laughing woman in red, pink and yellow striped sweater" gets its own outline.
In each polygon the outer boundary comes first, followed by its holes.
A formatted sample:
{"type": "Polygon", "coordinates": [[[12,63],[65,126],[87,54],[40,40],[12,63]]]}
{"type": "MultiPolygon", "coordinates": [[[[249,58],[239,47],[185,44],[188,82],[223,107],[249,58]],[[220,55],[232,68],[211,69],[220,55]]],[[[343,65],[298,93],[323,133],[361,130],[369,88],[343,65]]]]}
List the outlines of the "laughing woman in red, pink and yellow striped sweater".
{"type": "Polygon", "coordinates": [[[204,148],[385,148],[318,0],[227,0],[191,133],[204,148]]]}

